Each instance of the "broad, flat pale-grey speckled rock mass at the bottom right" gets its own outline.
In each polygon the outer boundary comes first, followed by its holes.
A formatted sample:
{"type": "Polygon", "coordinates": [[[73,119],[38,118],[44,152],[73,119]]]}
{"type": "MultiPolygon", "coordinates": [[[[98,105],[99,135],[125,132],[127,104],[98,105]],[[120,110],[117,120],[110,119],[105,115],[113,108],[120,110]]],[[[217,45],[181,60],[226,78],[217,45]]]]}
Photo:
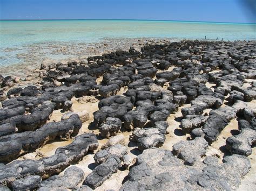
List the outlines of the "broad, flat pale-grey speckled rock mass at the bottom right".
{"type": "Polygon", "coordinates": [[[138,155],[120,190],[232,190],[251,167],[246,157],[235,154],[225,157],[221,164],[214,161],[187,168],[171,151],[150,148],[138,155]]]}

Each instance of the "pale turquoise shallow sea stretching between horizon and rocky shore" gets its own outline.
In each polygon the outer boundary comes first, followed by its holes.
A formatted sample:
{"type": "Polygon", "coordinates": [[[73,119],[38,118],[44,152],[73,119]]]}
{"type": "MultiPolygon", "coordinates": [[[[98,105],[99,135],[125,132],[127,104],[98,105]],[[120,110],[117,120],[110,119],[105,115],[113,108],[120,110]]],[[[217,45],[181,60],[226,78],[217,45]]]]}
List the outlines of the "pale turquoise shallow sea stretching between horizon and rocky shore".
{"type": "MultiPolygon", "coordinates": [[[[0,21],[0,66],[24,63],[23,54],[53,45],[97,43],[105,38],[256,40],[256,24],[156,20],[0,21]]],[[[41,52],[40,54],[44,54],[41,52]]],[[[54,55],[58,58],[58,55],[54,55]]],[[[59,55],[63,56],[63,55],[59,55]]]]}

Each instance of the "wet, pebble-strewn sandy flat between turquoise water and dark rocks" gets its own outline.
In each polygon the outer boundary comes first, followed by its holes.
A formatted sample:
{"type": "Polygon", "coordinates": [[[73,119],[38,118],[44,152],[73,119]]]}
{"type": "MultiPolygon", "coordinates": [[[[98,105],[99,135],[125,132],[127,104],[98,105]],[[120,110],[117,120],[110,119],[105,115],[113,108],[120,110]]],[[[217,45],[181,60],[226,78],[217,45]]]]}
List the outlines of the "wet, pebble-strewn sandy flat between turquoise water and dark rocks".
{"type": "Polygon", "coordinates": [[[69,61],[87,62],[88,56],[95,56],[110,53],[117,49],[127,51],[130,47],[140,50],[147,43],[166,43],[167,41],[177,41],[168,38],[104,38],[98,43],[40,43],[26,45],[19,48],[0,49],[3,52],[14,52],[18,63],[6,66],[0,63],[0,74],[4,76],[14,75],[26,77],[33,73],[33,70],[40,68],[42,63],[69,61]],[[19,51],[22,50],[22,53],[19,51]],[[16,53],[17,52],[17,53],[16,53]]]}

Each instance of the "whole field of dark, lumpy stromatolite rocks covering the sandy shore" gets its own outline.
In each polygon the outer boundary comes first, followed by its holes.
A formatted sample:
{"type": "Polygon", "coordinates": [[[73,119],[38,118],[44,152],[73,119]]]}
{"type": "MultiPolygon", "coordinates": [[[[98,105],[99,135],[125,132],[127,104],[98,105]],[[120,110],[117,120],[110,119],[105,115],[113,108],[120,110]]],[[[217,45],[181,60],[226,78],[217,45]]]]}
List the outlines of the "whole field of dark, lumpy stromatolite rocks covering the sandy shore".
{"type": "MultiPolygon", "coordinates": [[[[42,65],[39,86],[0,90],[0,161],[10,162],[0,165],[0,183],[17,190],[95,189],[131,164],[120,135],[131,131],[130,142],[143,153],[121,190],[235,189],[251,167],[246,157],[256,143],[256,111],[250,106],[256,84],[245,86],[256,79],[255,60],[254,42],[195,40],[148,44],[141,52],[130,48],[89,57],[86,63],[42,65]],[[86,177],[76,166],[53,175],[98,147],[93,133],[77,136],[89,114],[66,112],[73,97],[83,96],[100,100],[93,124],[99,136],[110,139],[96,152],[97,166],[86,177]],[[172,151],[157,148],[166,140],[167,118],[179,107],[181,130],[190,139],[174,144],[172,151]],[[47,123],[59,109],[66,112],[62,121],[47,123]],[[205,157],[208,146],[237,117],[239,134],[226,139],[230,155],[220,163],[215,156],[205,157]],[[51,157],[14,160],[50,140],[71,137],[73,142],[51,157]]],[[[0,76],[2,87],[12,81],[0,76]]]]}

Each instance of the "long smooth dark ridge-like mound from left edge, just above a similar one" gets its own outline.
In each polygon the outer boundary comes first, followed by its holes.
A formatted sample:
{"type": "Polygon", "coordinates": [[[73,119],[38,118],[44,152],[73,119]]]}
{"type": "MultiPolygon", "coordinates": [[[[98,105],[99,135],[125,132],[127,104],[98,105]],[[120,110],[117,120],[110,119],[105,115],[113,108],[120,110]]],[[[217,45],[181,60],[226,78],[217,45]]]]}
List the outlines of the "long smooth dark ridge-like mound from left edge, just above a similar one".
{"type": "Polygon", "coordinates": [[[16,159],[19,155],[34,151],[57,137],[63,140],[69,139],[77,135],[81,126],[79,116],[73,114],[69,119],[47,123],[36,131],[0,137],[0,160],[16,159]]]}

